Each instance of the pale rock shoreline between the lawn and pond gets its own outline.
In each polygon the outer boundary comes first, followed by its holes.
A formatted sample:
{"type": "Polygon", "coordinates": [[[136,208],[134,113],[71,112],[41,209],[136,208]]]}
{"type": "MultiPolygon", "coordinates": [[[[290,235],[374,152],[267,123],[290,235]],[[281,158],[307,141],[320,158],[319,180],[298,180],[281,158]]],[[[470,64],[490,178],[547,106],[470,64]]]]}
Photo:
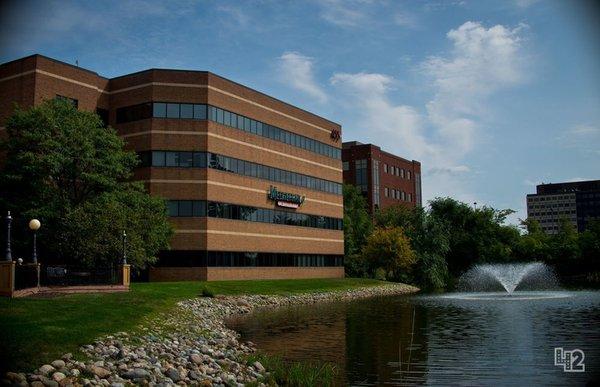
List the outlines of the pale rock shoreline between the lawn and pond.
{"type": "Polygon", "coordinates": [[[255,352],[251,342],[225,325],[234,315],[260,308],[313,304],[407,294],[404,284],[289,296],[240,295],[181,301],[169,314],[148,319],[135,333],[120,332],[81,347],[87,361],[72,354],[30,374],[9,372],[3,385],[59,386],[243,386],[268,373],[259,362],[247,364],[255,352]]]}

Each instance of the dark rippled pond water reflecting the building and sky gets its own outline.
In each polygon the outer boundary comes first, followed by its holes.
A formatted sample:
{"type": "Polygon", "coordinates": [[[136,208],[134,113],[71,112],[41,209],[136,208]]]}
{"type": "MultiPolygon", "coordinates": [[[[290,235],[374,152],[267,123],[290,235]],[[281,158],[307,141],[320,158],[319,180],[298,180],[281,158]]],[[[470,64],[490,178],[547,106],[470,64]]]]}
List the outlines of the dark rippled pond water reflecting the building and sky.
{"type": "Polygon", "coordinates": [[[599,380],[600,292],[517,293],[522,299],[407,296],[291,307],[230,326],[268,353],[335,363],[343,385],[599,380]],[[586,372],[554,366],[555,347],[583,350],[586,372]]]}

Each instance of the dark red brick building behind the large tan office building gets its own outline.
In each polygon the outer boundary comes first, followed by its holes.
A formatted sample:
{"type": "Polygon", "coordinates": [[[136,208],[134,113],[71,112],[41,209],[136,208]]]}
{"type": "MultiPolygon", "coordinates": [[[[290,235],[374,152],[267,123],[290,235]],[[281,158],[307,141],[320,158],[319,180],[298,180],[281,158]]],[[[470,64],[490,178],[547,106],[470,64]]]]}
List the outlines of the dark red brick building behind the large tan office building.
{"type": "Polygon", "coordinates": [[[384,152],[376,145],[345,142],[344,183],[357,186],[371,213],[396,204],[421,205],[421,163],[384,152]]]}

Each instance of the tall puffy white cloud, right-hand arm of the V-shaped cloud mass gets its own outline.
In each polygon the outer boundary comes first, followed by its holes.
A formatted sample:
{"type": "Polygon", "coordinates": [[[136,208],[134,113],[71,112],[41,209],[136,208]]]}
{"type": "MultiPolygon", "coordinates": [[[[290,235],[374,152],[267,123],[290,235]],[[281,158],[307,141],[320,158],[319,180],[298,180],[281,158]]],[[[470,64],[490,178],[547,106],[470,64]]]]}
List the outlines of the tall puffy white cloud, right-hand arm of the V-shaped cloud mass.
{"type": "Polygon", "coordinates": [[[429,119],[457,156],[473,148],[486,98],[523,80],[522,29],[466,22],[446,35],[453,44],[449,56],[421,65],[435,90],[427,103],[429,119]]]}

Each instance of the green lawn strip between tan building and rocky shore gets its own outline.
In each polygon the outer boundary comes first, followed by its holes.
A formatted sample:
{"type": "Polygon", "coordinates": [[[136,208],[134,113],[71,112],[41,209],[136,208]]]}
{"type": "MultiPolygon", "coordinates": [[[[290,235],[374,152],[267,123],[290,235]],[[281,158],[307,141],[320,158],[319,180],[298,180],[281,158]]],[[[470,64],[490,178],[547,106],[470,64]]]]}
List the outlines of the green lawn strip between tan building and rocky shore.
{"type": "Polygon", "coordinates": [[[214,294],[291,294],[376,286],[370,279],[134,283],[128,293],[0,298],[0,371],[29,371],[207,288],[214,294]]]}

